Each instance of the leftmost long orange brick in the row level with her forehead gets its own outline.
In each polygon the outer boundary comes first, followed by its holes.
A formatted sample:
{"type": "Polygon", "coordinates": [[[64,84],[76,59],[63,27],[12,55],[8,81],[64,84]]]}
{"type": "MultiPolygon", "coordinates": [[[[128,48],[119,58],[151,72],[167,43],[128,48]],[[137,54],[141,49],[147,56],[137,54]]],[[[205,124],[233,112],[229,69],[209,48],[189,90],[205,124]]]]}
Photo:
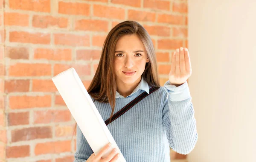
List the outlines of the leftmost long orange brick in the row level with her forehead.
{"type": "Polygon", "coordinates": [[[26,31],[10,31],[10,42],[50,44],[50,34],[30,33],[26,31]]]}

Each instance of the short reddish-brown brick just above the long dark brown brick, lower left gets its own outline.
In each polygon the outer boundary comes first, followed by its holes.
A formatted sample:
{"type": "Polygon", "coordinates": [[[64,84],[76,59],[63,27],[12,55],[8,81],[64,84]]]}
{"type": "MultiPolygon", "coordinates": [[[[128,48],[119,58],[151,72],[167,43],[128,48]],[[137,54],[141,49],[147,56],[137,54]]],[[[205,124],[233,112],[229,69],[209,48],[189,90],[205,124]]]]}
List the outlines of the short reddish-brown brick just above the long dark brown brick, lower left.
{"type": "Polygon", "coordinates": [[[9,112],[8,114],[8,125],[26,125],[29,124],[29,112],[9,112]]]}

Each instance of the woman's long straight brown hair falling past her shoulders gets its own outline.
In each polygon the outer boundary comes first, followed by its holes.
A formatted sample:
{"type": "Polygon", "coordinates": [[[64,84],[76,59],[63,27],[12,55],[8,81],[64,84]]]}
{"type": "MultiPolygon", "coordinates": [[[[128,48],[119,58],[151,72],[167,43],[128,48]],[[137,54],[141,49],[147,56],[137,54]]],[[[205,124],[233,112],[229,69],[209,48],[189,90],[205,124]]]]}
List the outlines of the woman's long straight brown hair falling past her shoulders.
{"type": "MultiPolygon", "coordinates": [[[[145,28],[136,21],[124,21],[117,24],[108,33],[102,47],[102,54],[99,60],[96,73],[87,92],[94,101],[110,103],[113,116],[116,102],[116,75],[114,71],[114,53],[116,42],[124,35],[136,34],[142,41],[145,51],[148,54],[149,62],[145,65],[142,77],[152,87],[160,87],[156,54],[153,42],[145,28]],[[112,92],[112,94],[111,94],[112,92]]],[[[75,126],[76,128],[76,126],[75,126]]],[[[76,129],[75,129],[76,130],[76,129]]]]}

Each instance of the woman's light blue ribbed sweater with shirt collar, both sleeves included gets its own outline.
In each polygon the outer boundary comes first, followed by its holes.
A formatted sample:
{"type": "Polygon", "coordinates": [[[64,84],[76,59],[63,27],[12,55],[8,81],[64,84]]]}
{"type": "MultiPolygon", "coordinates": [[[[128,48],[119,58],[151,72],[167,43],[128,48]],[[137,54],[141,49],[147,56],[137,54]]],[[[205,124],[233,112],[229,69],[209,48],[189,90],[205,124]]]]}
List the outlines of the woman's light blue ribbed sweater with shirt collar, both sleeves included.
{"type": "MultiPolygon", "coordinates": [[[[134,91],[124,98],[116,92],[114,113],[151,87],[141,79],[134,91]]],[[[198,140],[196,120],[187,82],[175,87],[166,81],[108,125],[127,162],[170,162],[170,148],[188,154],[198,140]]],[[[109,103],[94,102],[103,120],[111,115],[109,103]]],[[[74,162],[85,162],[93,154],[77,126],[74,162]]]]}

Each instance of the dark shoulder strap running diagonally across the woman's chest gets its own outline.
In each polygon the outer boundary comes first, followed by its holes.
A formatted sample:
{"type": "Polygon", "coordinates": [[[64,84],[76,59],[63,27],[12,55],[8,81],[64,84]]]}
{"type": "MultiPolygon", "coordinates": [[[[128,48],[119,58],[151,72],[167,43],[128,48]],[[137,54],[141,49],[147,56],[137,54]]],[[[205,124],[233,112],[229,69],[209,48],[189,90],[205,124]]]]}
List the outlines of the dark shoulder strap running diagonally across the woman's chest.
{"type": "Polygon", "coordinates": [[[127,112],[129,109],[131,109],[132,106],[134,106],[135,104],[137,104],[138,102],[140,102],[143,98],[147,97],[148,95],[150,95],[152,92],[156,91],[159,87],[152,87],[149,89],[149,93],[147,92],[143,92],[142,94],[140,94],[137,98],[135,98],[133,101],[131,101],[130,103],[128,103],[125,107],[123,107],[121,110],[119,110],[118,112],[116,112],[116,114],[114,114],[112,116],[112,119],[110,121],[110,118],[108,118],[108,120],[105,121],[105,124],[108,126],[109,123],[113,122],[114,120],[116,120],[119,116],[123,115],[125,112],[127,112]]]}

